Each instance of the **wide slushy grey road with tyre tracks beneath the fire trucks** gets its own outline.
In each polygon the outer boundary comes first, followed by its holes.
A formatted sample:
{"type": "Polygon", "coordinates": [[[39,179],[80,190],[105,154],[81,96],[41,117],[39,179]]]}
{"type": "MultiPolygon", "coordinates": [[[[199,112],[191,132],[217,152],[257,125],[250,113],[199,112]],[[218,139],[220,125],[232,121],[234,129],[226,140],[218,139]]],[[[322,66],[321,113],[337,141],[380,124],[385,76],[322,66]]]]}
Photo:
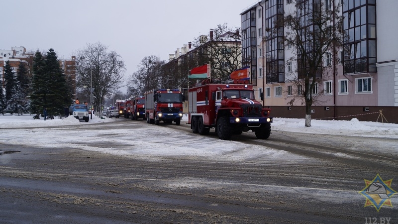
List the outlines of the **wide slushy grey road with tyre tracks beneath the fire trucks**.
{"type": "Polygon", "coordinates": [[[398,190],[394,138],[223,141],[124,118],[0,134],[0,223],[398,222],[397,196],[377,212],[358,193],[377,173],[398,190]]]}

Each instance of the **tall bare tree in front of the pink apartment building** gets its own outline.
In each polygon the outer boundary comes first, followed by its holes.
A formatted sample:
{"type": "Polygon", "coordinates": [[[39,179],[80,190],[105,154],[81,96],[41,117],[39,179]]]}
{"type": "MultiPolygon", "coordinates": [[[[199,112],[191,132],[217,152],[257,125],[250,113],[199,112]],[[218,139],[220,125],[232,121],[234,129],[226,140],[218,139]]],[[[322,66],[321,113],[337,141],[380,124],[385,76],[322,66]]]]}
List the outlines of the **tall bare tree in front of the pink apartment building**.
{"type": "Polygon", "coordinates": [[[337,0],[330,0],[329,5],[321,0],[297,0],[296,10],[285,12],[283,20],[276,21],[275,32],[285,27],[285,46],[293,46],[297,55],[297,77],[291,80],[297,95],[289,103],[301,100],[305,104],[306,127],[311,126],[311,106],[323,93],[317,92],[316,85],[326,71],[325,56],[335,56],[342,45],[340,8],[337,0]]]}

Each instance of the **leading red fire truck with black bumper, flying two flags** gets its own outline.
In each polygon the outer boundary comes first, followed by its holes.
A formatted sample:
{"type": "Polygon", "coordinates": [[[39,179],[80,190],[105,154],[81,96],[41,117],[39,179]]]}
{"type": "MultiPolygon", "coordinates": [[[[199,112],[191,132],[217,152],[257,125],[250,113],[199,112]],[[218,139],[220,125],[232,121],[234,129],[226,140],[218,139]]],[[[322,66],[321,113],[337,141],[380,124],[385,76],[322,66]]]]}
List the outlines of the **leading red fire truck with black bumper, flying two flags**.
{"type": "Polygon", "coordinates": [[[252,130],[256,137],[271,134],[271,109],[254,99],[252,85],[199,83],[188,91],[188,123],[194,133],[208,134],[215,128],[220,139],[252,130]]]}

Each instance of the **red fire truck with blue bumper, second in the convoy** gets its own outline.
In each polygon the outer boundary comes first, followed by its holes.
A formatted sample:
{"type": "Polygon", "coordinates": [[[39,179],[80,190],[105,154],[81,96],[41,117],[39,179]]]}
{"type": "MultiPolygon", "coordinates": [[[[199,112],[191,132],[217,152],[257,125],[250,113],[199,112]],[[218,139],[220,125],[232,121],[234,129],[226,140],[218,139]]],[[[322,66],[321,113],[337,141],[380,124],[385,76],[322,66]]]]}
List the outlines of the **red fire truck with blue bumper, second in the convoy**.
{"type": "Polygon", "coordinates": [[[152,90],[144,95],[147,123],[159,125],[163,120],[165,123],[174,121],[180,125],[183,116],[183,95],[180,90],[152,90]]]}

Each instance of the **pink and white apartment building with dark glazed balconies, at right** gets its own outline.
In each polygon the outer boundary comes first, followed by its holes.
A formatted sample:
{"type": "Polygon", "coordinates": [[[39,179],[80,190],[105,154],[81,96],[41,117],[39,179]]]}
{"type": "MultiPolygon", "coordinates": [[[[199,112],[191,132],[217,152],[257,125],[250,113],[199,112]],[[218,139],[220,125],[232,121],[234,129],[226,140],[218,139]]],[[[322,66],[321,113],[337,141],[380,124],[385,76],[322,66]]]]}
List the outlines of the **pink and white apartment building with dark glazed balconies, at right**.
{"type": "Polygon", "coordinates": [[[299,12],[308,21],[314,3],[343,16],[343,43],[323,56],[324,69],[313,92],[323,94],[311,116],[376,121],[383,110],[389,122],[398,122],[396,0],[261,0],[246,8],[241,13],[242,62],[251,67],[252,83],[264,93],[263,105],[272,108],[273,116],[304,117],[301,102],[289,104],[299,91],[294,85],[300,69],[297,51],[284,41],[286,27],[271,32],[287,12],[299,12]]]}

